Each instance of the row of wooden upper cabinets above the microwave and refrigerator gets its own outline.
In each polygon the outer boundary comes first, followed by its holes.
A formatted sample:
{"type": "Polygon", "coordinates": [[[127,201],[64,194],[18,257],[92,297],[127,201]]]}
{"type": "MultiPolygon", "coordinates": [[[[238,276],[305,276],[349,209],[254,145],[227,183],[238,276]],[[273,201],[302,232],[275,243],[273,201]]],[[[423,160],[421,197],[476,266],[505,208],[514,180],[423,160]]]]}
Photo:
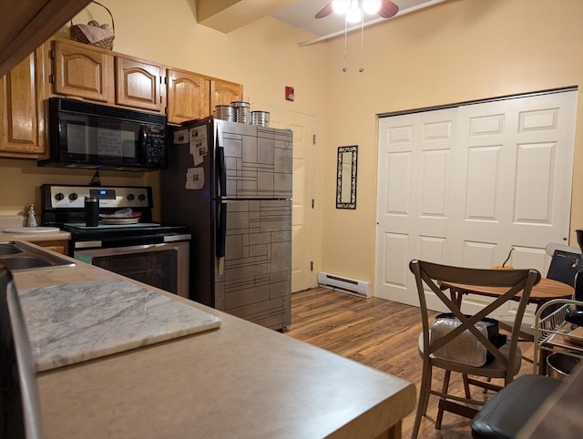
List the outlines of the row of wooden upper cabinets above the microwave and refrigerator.
{"type": "Polygon", "coordinates": [[[243,97],[241,84],[64,38],[52,42],[51,57],[53,96],[166,111],[170,124],[208,117],[215,106],[243,97]]]}

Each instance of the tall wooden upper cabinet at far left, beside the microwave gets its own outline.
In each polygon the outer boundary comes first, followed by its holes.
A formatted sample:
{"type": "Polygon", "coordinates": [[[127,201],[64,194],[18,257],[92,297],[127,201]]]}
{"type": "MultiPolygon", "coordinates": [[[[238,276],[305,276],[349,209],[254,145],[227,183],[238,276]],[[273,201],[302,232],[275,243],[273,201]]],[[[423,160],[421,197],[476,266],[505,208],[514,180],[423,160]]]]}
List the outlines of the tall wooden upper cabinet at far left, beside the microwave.
{"type": "Polygon", "coordinates": [[[39,48],[0,78],[2,157],[45,157],[44,56],[39,48]]]}

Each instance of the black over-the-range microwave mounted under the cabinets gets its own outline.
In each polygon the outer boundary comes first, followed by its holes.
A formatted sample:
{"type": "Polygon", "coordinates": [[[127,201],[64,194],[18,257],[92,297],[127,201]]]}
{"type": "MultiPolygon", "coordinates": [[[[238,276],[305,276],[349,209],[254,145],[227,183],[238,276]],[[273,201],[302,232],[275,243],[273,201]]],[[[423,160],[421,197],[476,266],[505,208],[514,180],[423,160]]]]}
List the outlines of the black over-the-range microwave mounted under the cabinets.
{"type": "Polygon", "coordinates": [[[60,97],[48,101],[50,157],[38,166],[166,168],[166,115],[60,97]]]}

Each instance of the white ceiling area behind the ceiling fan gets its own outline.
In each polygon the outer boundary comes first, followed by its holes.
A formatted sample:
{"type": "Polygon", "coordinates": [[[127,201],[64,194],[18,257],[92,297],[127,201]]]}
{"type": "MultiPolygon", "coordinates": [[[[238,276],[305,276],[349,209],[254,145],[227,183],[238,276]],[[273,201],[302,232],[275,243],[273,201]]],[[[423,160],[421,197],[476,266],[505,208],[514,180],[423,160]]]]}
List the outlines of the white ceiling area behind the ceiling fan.
{"type": "MultiPolygon", "coordinates": [[[[297,0],[294,4],[283,7],[282,9],[271,13],[271,16],[281,20],[289,25],[299,27],[314,35],[314,38],[302,42],[301,45],[315,43],[322,39],[332,36],[342,35],[344,32],[344,18],[341,15],[331,14],[323,18],[316,19],[316,15],[322,7],[327,5],[331,0],[297,0]]],[[[395,5],[399,6],[399,12],[392,20],[400,15],[408,14],[416,10],[442,3],[445,0],[393,0],[395,5]]],[[[384,21],[379,15],[370,15],[364,17],[364,26],[370,26],[375,23],[384,21]]],[[[349,30],[360,29],[360,25],[353,26],[349,30]]]]}

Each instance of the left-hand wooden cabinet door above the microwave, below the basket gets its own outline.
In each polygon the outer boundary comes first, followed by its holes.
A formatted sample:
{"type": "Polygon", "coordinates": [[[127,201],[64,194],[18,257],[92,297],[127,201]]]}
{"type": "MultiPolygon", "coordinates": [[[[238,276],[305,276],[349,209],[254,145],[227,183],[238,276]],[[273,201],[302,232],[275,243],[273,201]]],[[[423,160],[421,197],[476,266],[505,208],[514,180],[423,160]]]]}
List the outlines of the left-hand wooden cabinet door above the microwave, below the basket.
{"type": "Polygon", "coordinates": [[[105,49],[80,43],[54,42],[54,92],[101,102],[114,102],[114,60],[105,49]]]}

